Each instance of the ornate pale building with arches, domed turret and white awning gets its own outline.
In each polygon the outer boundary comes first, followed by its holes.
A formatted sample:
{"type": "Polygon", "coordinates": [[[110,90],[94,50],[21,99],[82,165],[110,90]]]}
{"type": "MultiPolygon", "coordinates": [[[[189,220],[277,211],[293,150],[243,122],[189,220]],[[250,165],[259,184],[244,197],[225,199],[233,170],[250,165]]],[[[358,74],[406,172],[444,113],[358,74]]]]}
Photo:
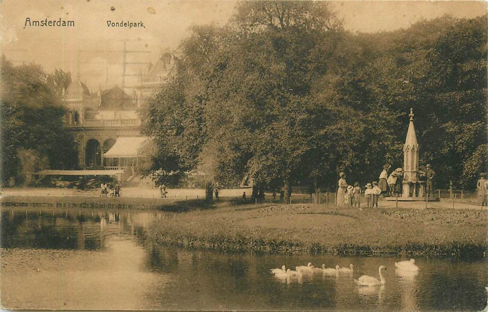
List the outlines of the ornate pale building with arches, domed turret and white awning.
{"type": "Polygon", "coordinates": [[[168,81],[178,60],[175,55],[164,53],[147,73],[141,73],[132,95],[118,85],[90,92],[80,77],[63,90],[63,104],[68,108],[65,122],[75,135],[80,168],[133,168],[138,149],[145,141],[136,110],[168,81]],[[108,153],[111,148],[114,151],[108,153]]]}

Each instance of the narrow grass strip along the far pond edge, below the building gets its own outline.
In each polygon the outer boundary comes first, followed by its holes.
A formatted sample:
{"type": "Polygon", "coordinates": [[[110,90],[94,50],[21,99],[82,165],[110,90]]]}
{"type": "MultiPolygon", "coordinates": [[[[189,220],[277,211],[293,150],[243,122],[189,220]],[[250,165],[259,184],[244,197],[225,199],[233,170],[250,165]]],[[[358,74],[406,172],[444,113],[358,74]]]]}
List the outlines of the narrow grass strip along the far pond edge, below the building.
{"type": "Polygon", "coordinates": [[[18,196],[0,200],[2,206],[52,206],[102,209],[157,209],[184,212],[210,208],[204,200],[175,201],[171,198],[96,197],[96,196],[18,196]]]}

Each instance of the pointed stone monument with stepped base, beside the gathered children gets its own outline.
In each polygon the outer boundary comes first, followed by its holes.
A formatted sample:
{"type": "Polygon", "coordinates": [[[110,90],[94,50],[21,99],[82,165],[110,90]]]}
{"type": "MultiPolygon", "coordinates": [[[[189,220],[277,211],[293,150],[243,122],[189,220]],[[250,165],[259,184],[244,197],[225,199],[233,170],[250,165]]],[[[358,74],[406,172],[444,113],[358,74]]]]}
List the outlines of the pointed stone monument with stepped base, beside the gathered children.
{"type": "Polygon", "coordinates": [[[413,125],[413,108],[410,108],[410,122],[408,124],[405,144],[403,145],[403,181],[400,197],[386,197],[386,200],[429,200],[437,201],[436,197],[426,198],[426,181],[419,179],[419,144],[413,125]]]}

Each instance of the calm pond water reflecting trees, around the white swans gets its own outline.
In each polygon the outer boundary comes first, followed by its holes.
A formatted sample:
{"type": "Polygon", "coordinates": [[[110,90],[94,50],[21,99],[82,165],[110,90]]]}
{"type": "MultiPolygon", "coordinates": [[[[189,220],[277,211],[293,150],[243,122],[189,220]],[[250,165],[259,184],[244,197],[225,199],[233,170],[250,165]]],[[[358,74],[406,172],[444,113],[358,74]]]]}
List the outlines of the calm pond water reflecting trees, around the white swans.
{"type": "MultiPolygon", "coordinates": [[[[166,216],[167,217],[167,216],[166,216]]],[[[481,311],[487,264],[416,259],[418,274],[387,257],[188,251],[144,235],[163,212],[13,207],[1,210],[3,309],[481,311]],[[281,281],[269,269],[355,266],[353,274],[281,281]],[[356,286],[362,274],[387,283],[356,286]]],[[[404,259],[401,259],[404,260],[404,259]]]]}

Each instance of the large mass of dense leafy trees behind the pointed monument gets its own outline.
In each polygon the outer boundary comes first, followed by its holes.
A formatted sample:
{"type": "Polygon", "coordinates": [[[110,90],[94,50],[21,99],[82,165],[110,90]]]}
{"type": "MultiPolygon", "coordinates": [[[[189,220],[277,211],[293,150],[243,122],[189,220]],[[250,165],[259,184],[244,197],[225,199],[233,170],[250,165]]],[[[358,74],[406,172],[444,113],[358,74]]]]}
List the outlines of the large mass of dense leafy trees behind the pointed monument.
{"type": "Polygon", "coordinates": [[[325,2],[240,2],[195,26],[182,64],[145,108],[150,170],[206,172],[222,186],[334,188],[402,166],[409,108],[421,164],[472,187],[487,163],[487,18],[351,34],[325,2]]]}

